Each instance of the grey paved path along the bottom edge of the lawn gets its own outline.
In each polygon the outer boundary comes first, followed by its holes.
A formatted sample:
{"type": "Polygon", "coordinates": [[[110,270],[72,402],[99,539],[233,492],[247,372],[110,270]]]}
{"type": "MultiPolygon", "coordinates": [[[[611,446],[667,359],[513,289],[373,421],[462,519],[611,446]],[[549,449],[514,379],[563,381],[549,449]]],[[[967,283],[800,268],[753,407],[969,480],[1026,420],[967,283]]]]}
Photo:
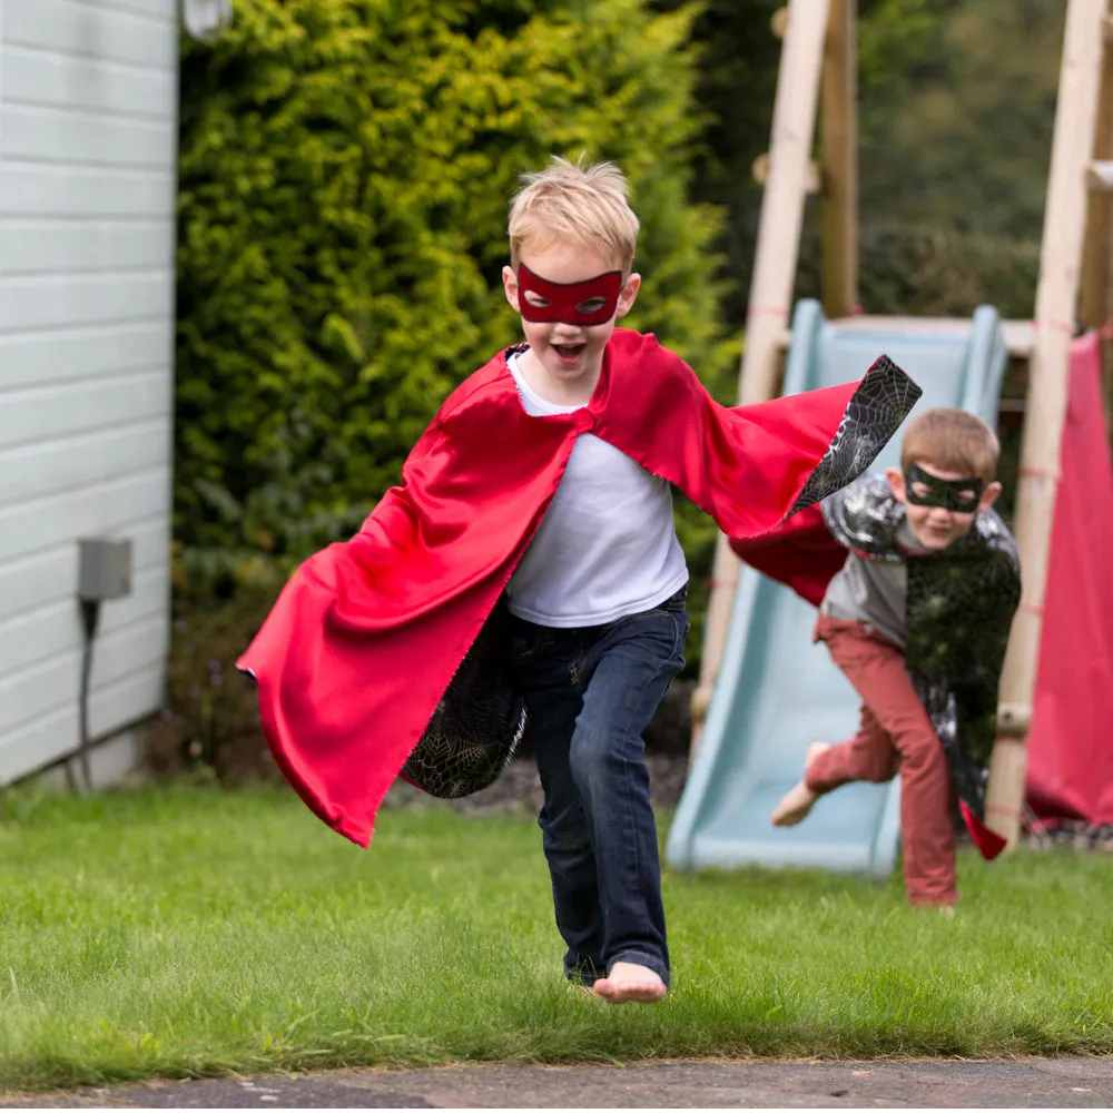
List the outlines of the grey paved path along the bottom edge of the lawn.
{"type": "Polygon", "coordinates": [[[1113,1105],[1113,1057],[873,1063],[450,1066],[208,1078],[0,1095],[0,1109],[551,1109],[769,1106],[1093,1109],[1113,1105]]]}

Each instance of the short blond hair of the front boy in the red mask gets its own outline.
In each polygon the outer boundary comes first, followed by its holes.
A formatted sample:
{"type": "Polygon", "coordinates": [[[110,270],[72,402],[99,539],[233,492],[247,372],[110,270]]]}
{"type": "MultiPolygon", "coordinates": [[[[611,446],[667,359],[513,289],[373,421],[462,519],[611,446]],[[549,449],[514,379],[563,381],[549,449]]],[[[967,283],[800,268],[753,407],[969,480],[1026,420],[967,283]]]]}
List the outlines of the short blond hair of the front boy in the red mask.
{"type": "Polygon", "coordinates": [[[544,250],[559,240],[593,247],[623,270],[633,263],[638,217],[627,200],[627,181],[613,162],[584,165],[558,155],[525,183],[510,203],[510,262],[523,246],[544,250]]]}

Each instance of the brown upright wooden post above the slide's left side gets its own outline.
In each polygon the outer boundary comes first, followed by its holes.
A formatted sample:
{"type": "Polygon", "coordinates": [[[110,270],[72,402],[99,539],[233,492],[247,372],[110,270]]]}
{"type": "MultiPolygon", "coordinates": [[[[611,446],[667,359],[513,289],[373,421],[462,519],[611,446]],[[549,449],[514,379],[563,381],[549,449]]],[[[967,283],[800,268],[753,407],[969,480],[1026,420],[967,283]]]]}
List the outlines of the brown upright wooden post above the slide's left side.
{"type": "Polygon", "coordinates": [[[828,317],[858,305],[857,0],[831,0],[819,98],[823,136],[823,286],[828,317]]]}

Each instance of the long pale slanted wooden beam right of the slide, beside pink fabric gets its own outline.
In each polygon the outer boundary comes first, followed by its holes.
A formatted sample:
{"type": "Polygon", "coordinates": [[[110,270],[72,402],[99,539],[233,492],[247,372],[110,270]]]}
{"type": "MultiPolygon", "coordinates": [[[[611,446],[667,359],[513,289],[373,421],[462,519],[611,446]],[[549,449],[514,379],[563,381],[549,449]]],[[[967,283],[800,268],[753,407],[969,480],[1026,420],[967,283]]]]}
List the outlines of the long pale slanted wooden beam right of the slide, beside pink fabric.
{"type": "MultiPolygon", "coordinates": [[[[1006,731],[1015,723],[1017,732],[1026,732],[1032,718],[1085,237],[1084,170],[1093,158],[1105,12],[1106,0],[1070,0],[1066,10],[1016,498],[1014,532],[1023,583],[1001,678],[1006,731]]],[[[1024,740],[1002,733],[989,767],[986,823],[1011,847],[1020,837],[1024,774],[1024,740]]]]}

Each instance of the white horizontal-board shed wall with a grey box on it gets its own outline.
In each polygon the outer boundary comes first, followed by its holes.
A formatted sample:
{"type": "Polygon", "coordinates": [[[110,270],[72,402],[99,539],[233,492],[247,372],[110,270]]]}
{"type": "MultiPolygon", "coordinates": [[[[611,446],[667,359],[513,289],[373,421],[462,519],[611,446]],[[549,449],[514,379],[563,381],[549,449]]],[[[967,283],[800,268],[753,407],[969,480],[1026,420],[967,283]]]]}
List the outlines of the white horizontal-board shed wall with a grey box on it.
{"type": "Polygon", "coordinates": [[[0,0],[0,782],[78,745],[78,539],[134,544],[90,728],[162,701],[177,0],[0,0]]]}

